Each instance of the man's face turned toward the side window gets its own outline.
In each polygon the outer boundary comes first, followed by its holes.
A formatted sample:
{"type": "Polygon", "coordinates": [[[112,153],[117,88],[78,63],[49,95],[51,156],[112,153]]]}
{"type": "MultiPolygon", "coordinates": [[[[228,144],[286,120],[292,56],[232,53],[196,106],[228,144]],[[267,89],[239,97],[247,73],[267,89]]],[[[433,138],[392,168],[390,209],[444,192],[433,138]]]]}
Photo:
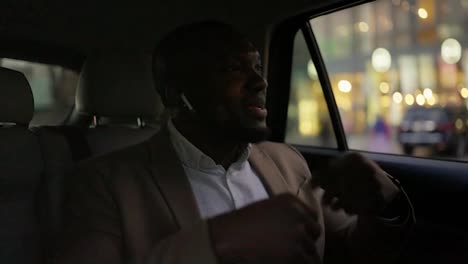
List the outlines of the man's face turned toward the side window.
{"type": "MultiPolygon", "coordinates": [[[[258,51],[245,40],[220,41],[195,69],[196,111],[223,136],[255,142],[268,135],[267,83],[258,51]]],[[[192,79],[192,78],[191,78],[192,79]]]]}

